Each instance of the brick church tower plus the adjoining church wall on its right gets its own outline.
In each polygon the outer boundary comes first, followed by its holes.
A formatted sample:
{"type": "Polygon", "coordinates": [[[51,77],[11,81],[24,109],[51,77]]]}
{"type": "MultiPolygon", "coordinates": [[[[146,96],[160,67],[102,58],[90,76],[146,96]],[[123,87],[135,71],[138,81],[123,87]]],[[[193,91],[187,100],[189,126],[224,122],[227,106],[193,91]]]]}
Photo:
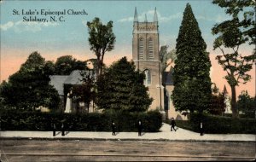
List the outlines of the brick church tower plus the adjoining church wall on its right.
{"type": "Polygon", "coordinates": [[[165,83],[162,83],[160,32],[156,9],[154,9],[154,20],[148,21],[145,14],[143,22],[139,22],[135,9],[132,35],[132,60],[137,69],[145,73],[144,84],[148,87],[150,97],[154,99],[149,110],[159,109],[168,119],[186,119],[175,111],[171,101],[172,72],[164,72],[166,79],[164,79],[165,83]]]}

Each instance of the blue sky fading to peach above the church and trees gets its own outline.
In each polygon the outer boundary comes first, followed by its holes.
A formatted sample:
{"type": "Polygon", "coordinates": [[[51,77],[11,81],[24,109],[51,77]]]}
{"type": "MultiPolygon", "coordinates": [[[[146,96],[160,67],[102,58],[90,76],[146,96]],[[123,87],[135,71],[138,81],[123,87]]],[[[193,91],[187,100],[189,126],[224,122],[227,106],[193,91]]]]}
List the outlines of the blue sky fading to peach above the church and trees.
{"type": "MultiPolygon", "coordinates": [[[[113,32],[116,36],[114,49],[105,55],[104,62],[110,65],[123,56],[131,60],[132,26],[134,10],[137,8],[138,20],[143,21],[147,14],[148,21],[153,21],[156,8],[159,20],[160,45],[175,49],[176,39],[183,19],[183,10],[189,3],[201,29],[202,38],[207,43],[207,51],[212,61],[211,78],[220,90],[226,85],[229,95],[230,86],[224,79],[226,74],[215,60],[221,55],[218,49],[213,50],[212,43],[216,36],[211,29],[216,23],[229,20],[224,9],[212,4],[210,0],[165,0],[165,1],[15,1],[3,0],[0,3],[1,19],[1,57],[0,82],[8,80],[9,75],[17,72],[33,51],[38,51],[46,61],[56,61],[62,55],[73,55],[80,61],[96,58],[88,43],[87,21],[99,17],[104,24],[113,21],[113,32]],[[57,12],[66,11],[57,15],[57,12]],[[47,12],[51,12],[49,15],[47,12]],[[67,13],[68,11],[68,13],[67,13]],[[72,12],[84,12],[73,14],[72,12]],[[46,19],[48,22],[26,21],[29,17],[46,19]],[[55,20],[51,19],[55,16],[55,20]],[[52,20],[52,21],[50,21],[52,20]],[[60,21],[61,20],[61,21],[60,21]]],[[[252,46],[242,46],[244,55],[251,55],[252,46]]],[[[240,84],[236,94],[247,90],[255,95],[255,66],[249,72],[252,80],[240,84]]]]}

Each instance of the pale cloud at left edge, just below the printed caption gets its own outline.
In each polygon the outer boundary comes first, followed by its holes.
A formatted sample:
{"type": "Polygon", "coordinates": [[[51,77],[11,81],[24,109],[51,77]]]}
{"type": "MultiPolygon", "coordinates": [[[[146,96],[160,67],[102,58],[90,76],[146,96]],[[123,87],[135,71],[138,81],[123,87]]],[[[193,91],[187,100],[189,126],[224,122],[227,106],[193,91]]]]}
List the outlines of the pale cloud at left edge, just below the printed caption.
{"type": "Polygon", "coordinates": [[[7,31],[13,28],[15,32],[39,32],[44,27],[58,25],[59,24],[56,22],[24,22],[22,20],[19,20],[17,22],[9,21],[6,24],[0,25],[0,28],[3,31],[7,31]]]}

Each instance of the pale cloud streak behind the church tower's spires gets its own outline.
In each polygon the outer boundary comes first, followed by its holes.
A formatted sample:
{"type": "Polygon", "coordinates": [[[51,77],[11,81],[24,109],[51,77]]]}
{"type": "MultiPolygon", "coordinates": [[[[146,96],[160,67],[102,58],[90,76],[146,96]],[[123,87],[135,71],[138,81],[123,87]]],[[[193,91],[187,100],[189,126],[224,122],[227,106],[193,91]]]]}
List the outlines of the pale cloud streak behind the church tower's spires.
{"type": "MultiPolygon", "coordinates": [[[[171,14],[167,17],[165,16],[162,16],[160,14],[160,12],[156,11],[157,13],[157,17],[158,17],[158,20],[160,22],[168,22],[168,21],[171,21],[171,20],[174,20],[174,19],[178,19],[178,18],[181,18],[182,17],[182,13],[176,13],[176,14],[171,14]]],[[[143,12],[142,14],[138,15],[138,20],[139,21],[143,21],[145,20],[145,14],[147,15],[147,20],[148,21],[153,21],[154,20],[154,10],[148,10],[147,12],[143,12]]],[[[119,22],[131,22],[133,21],[134,17],[131,16],[131,17],[127,17],[127,18],[123,18],[121,20],[118,20],[119,22]]]]}

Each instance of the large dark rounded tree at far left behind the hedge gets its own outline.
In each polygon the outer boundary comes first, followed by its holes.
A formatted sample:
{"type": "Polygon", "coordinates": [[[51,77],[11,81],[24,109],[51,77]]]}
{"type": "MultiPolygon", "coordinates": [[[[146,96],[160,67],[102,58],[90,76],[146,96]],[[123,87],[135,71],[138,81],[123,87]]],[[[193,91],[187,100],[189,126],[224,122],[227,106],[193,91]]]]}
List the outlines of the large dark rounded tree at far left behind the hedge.
{"type": "Polygon", "coordinates": [[[49,85],[49,73],[49,62],[33,52],[20,70],[9,77],[9,82],[3,84],[0,94],[11,107],[25,110],[35,110],[39,106],[56,108],[60,98],[49,85]]]}

